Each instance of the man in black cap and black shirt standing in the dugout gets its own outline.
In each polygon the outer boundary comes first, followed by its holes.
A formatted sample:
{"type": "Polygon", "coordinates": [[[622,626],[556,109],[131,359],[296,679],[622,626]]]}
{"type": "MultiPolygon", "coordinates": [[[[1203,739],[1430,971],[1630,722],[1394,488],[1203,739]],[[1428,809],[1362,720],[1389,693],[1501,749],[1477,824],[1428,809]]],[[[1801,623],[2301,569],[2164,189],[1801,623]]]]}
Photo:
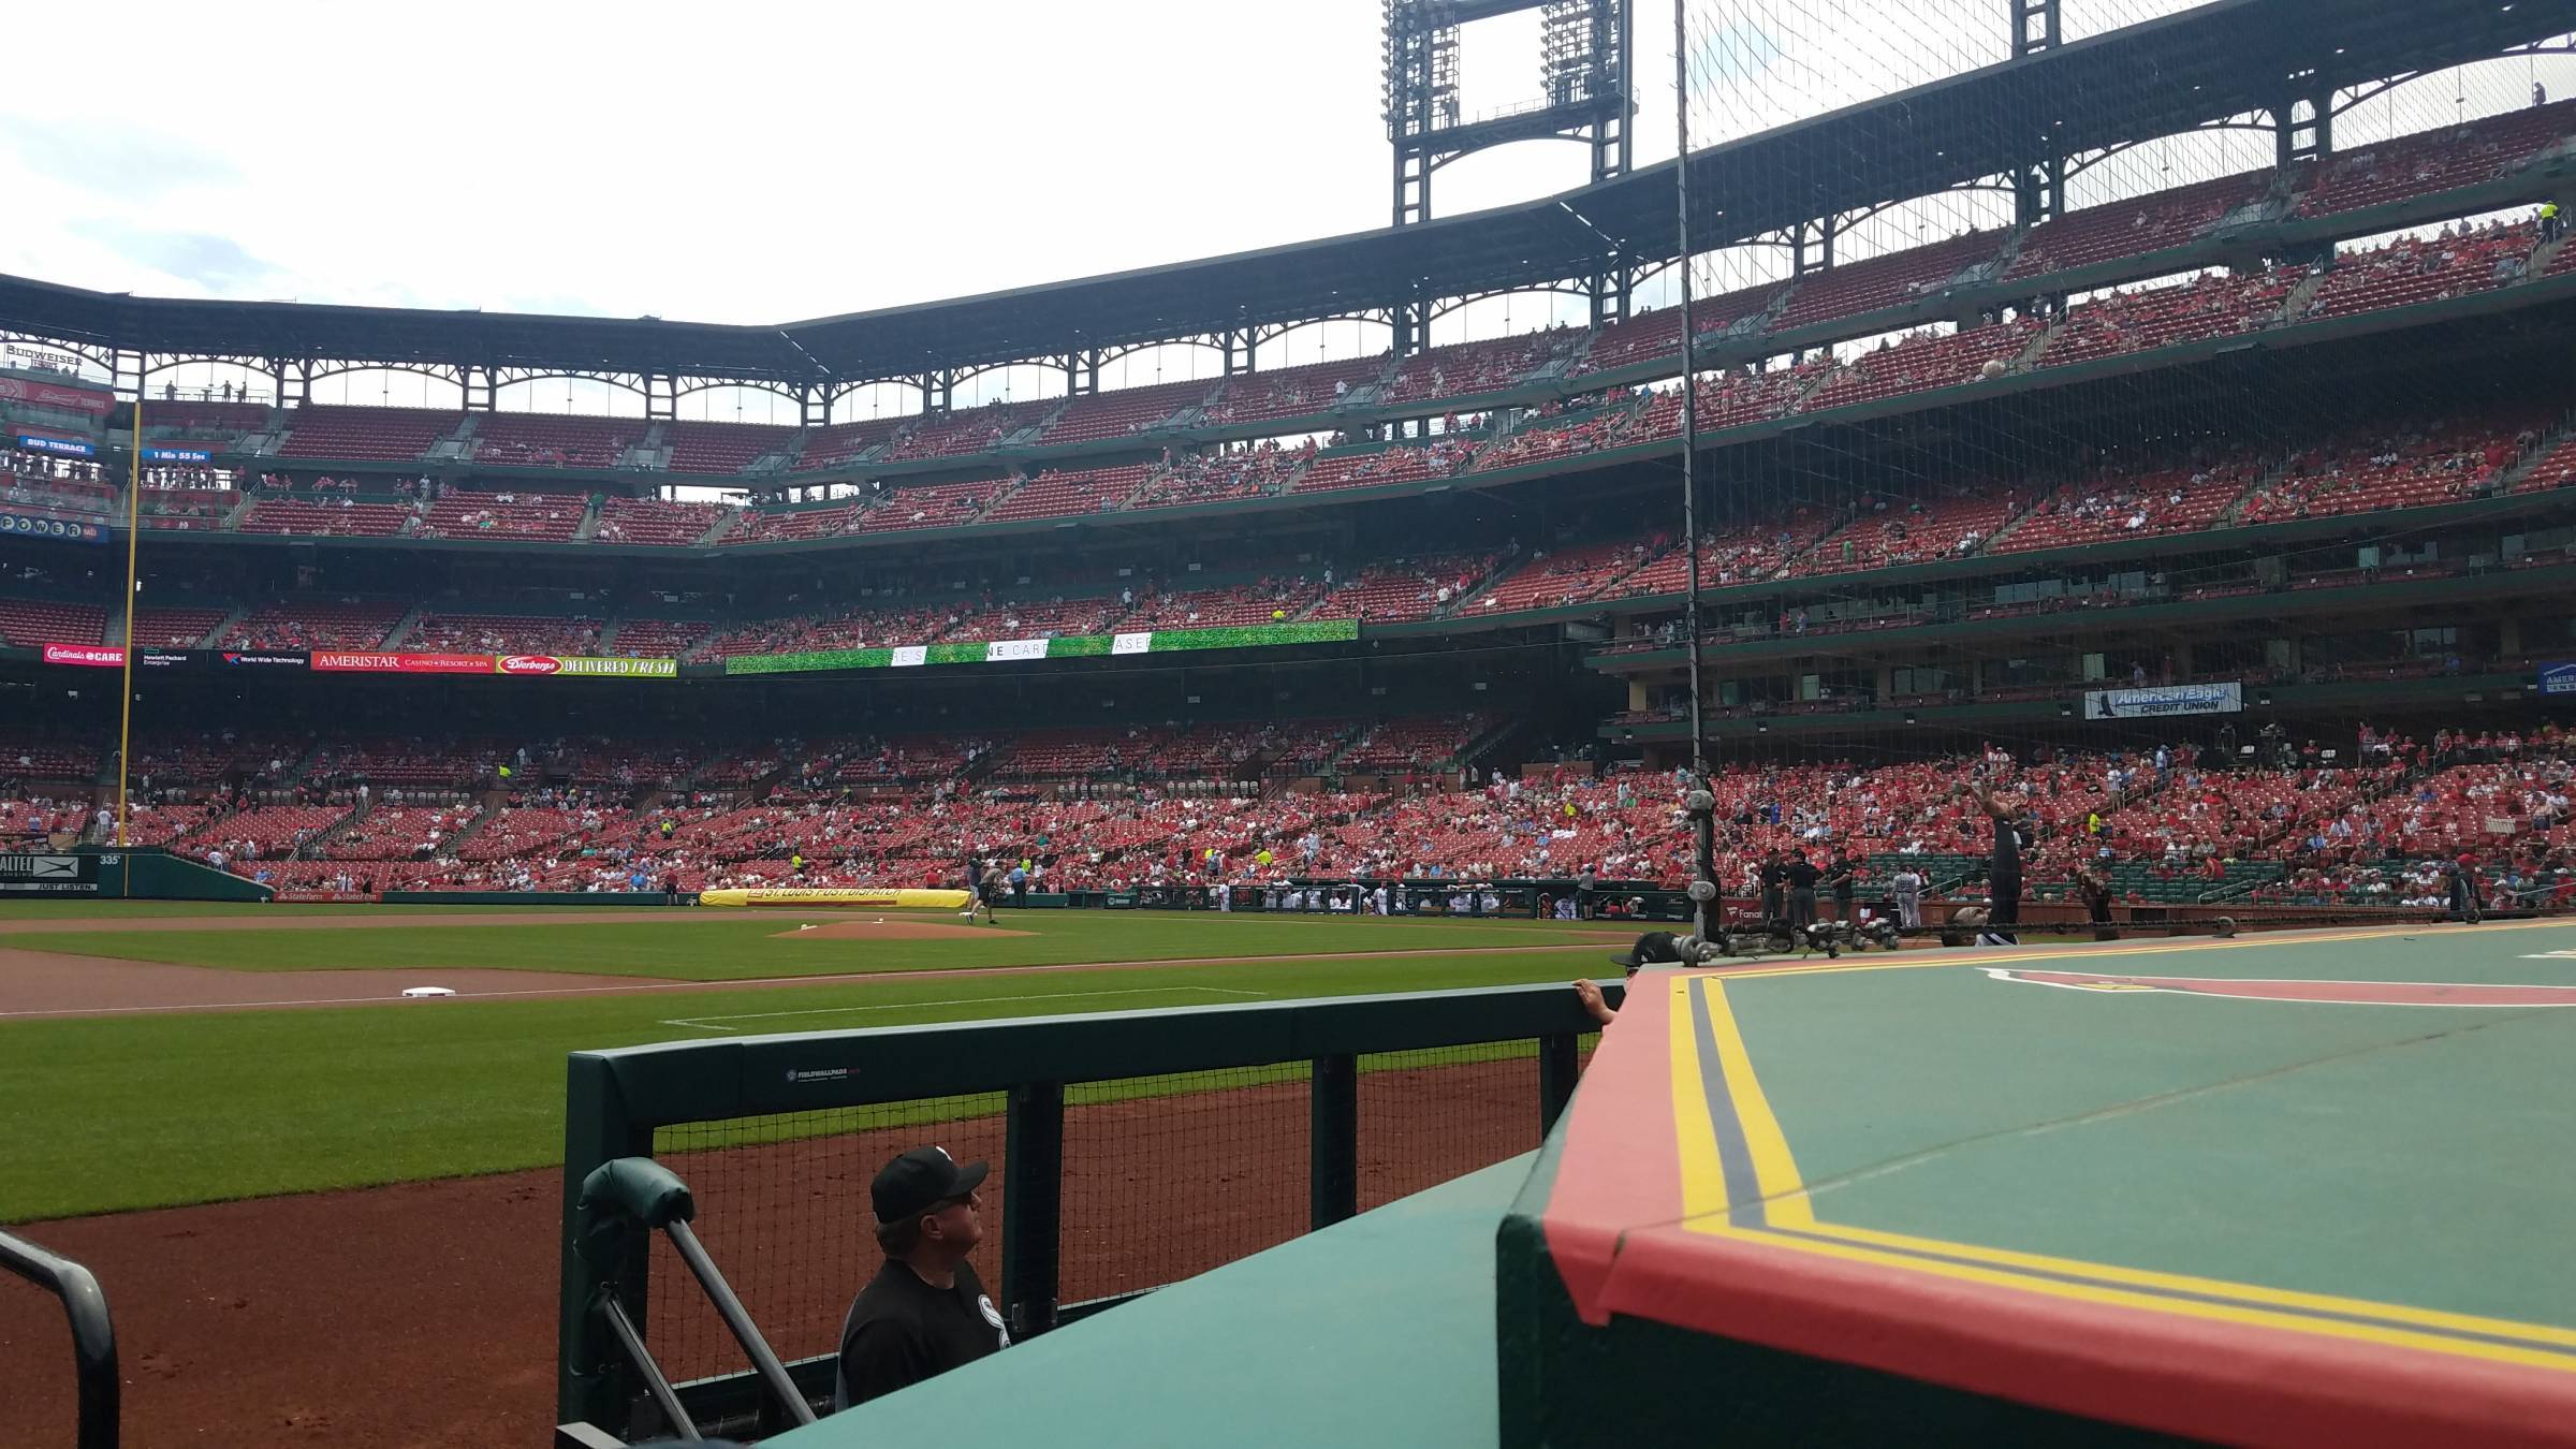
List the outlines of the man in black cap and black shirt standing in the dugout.
{"type": "Polygon", "coordinates": [[[876,1173],[868,1196],[886,1266],[840,1325],[835,1413],[1010,1348],[1002,1310],[966,1263],[984,1238],[974,1217],[984,1173],[945,1147],[914,1147],[876,1173]]]}

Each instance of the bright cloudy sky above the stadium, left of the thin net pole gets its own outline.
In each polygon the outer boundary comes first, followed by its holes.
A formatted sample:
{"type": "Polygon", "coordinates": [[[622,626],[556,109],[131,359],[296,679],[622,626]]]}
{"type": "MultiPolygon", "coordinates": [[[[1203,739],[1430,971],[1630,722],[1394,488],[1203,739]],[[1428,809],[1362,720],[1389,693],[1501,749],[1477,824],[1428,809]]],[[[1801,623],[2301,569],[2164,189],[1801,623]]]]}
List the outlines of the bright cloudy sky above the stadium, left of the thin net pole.
{"type": "MultiPolygon", "coordinates": [[[[77,5],[10,13],[15,54],[100,72],[0,93],[0,271],[781,322],[1388,219],[1378,0],[144,13],[113,41],[77,5]]],[[[1669,8],[1638,28],[1669,98],[1669,8]]],[[[1466,36],[1468,111],[1538,93],[1535,34],[1466,36]]],[[[1582,168],[1564,142],[1481,157],[1440,211],[1582,168]]]]}

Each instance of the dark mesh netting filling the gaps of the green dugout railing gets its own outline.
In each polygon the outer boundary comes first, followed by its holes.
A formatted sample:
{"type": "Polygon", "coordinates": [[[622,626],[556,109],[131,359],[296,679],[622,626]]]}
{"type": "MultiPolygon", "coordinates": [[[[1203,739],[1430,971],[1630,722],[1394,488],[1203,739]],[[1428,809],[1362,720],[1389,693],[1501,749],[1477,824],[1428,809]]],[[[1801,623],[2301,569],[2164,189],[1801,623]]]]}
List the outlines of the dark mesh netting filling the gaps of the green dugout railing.
{"type": "MultiPolygon", "coordinates": [[[[1592,1039],[1584,1039],[1589,1049],[1592,1039]]],[[[1360,1207],[1538,1147],[1538,1047],[1492,1042],[1360,1057],[1360,1207]]],[[[907,1147],[984,1158],[976,1271],[999,1294],[1002,1093],[899,1101],[654,1132],[690,1186],[696,1230],[781,1359],[829,1354],[876,1274],[868,1181],[907,1147]]],[[[1059,1299],[1164,1287],[1309,1230],[1306,1062],[1064,1088],[1059,1299]]],[[[675,1382],[739,1374],[742,1351],[659,1238],[647,1346],[675,1382]]]]}

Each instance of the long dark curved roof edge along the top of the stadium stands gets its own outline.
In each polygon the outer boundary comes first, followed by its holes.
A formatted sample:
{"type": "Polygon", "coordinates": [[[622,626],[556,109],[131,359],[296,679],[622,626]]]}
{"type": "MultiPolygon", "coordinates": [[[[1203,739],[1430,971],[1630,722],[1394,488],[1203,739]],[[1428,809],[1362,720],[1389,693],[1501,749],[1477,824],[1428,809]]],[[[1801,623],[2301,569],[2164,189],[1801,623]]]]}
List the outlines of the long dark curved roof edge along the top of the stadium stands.
{"type": "MultiPolygon", "coordinates": [[[[1690,155],[1723,211],[1700,248],[1927,196],[2040,155],[2084,155],[2269,111],[2331,85],[2421,75],[2576,31],[2576,0],[2215,0],[1690,155]],[[2027,134],[1999,116],[2030,119],[2027,134]],[[1829,165],[1824,162],[1829,157],[1829,165]],[[1814,173],[1793,186],[1747,178],[1814,173]]],[[[131,297],[0,276],[0,325],[98,345],[245,358],[479,364],[778,384],[876,382],[1280,327],[1587,278],[1677,253],[1677,162],[1602,186],[1345,237],[948,302],[711,325],[131,297]]]]}

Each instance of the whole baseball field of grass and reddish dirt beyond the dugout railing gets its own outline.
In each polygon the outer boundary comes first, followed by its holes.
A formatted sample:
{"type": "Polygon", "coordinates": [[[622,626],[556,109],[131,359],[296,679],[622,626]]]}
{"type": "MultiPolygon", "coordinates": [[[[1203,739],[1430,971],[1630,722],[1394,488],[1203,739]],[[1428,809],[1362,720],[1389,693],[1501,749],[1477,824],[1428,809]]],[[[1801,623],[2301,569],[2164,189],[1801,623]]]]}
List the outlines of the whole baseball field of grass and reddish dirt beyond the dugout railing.
{"type": "MultiPolygon", "coordinates": [[[[0,1222],[106,1284],[131,1444],[533,1441],[567,1052],[1548,982],[1615,972],[1602,957],[1625,938],[1321,915],[0,902],[0,1222]]],[[[0,1361],[57,1361],[59,1336],[49,1302],[0,1294],[0,1361]]]]}

